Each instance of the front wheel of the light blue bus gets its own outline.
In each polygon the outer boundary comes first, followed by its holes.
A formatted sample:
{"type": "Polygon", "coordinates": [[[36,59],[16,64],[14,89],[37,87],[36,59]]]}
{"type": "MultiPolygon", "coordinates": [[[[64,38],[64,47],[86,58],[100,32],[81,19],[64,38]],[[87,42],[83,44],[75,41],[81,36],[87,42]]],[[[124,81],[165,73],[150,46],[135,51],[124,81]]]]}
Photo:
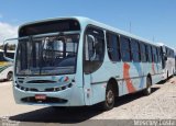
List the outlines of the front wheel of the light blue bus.
{"type": "Polygon", "coordinates": [[[103,101],[101,103],[101,107],[105,111],[109,111],[109,110],[113,108],[114,99],[116,99],[114,89],[113,89],[112,84],[108,84],[107,90],[106,90],[106,101],[103,101]]]}

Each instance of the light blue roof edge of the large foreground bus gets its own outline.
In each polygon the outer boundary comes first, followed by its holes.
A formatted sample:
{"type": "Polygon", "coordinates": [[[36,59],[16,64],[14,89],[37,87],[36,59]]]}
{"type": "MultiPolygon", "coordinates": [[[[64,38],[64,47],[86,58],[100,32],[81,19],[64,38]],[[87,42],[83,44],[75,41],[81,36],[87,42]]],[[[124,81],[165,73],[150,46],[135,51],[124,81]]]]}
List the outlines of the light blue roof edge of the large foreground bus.
{"type": "Polygon", "coordinates": [[[138,39],[138,41],[142,41],[142,42],[146,42],[146,44],[151,44],[151,45],[154,45],[154,46],[160,46],[157,44],[153,44],[153,42],[148,41],[148,39],[145,39],[145,38],[142,38],[140,36],[136,36],[134,34],[131,34],[129,32],[124,32],[122,30],[119,30],[119,28],[116,28],[116,27],[112,27],[110,25],[107,25],[107,24],[103,24],[103,23],[100,23],[98,21],[95,21],[95,20],[91,20],[91,19],[88,19],[88,18],[84,18],[84,16],[69,16],[69,18],[54,18],[54,19],[46,19],[46,20],[40,20],[40,21],[34,21],[34,22],[30,22],[30,23],[25,23],[23,25],[21,25],[19,27],[19,31],[23,27],[23,26],[26,26],[26,25],[31,25],[31,24],[35,24],[35,23],[42,23],[42,22],[48,22],[48,21],[57,21],[57,20],[68,20],[68,19],[73,19],[73,20],[77,20],[79,21],[81,27],[82,26],[87,26],[88,24],[92,24],[92,25],[96,25],[98,27],[101,27],[101,28],[105,28],[105,30],[108,30],[108,31],[112,31],[114,33],[118,33],[118,34],[121,34],[121,35],[124,35],[124,36],[129,36],[131,38],[134,38],[134,39],[138,39]]]}

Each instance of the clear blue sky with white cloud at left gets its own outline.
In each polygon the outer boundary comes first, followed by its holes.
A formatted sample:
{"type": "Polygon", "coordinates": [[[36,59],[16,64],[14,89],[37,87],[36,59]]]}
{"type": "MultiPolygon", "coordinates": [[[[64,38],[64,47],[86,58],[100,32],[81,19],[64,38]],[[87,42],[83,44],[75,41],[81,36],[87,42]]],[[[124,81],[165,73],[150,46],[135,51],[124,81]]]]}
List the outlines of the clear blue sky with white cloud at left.
{"type": "Polygon", "coordinates": [[[176,0],[0,0],[0,43],[26,22],[76,15],[176,48],[176,0]]]}

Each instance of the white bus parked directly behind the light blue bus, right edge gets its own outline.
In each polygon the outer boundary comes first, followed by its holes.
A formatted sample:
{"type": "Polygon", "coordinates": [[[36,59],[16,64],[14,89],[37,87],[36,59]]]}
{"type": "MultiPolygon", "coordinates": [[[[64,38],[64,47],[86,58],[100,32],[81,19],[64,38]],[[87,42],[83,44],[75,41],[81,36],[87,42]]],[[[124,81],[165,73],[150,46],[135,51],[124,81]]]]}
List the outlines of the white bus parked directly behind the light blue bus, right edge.
{"type": "Polygon", "coordinates": [[[161,46],[162,53],[162,68],[163,68],[163,79],[168,79],[174,76],[176,70],[175,51],[164,44],[158,44],[161,46]]]}

